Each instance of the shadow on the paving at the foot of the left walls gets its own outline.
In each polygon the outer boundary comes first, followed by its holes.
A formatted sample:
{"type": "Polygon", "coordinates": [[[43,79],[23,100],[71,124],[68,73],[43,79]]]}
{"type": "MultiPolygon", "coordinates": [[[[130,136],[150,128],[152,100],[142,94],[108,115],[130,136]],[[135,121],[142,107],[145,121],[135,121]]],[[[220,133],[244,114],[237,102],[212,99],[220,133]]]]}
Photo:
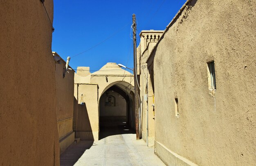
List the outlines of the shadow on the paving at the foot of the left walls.
{"type": "Polygon", "coordinates": [[[61,166],[73,166],[83,153],[92,146],[94,146],[93,141],[80,141],[77,144],[71,145],[61,154],[61,166]]]}

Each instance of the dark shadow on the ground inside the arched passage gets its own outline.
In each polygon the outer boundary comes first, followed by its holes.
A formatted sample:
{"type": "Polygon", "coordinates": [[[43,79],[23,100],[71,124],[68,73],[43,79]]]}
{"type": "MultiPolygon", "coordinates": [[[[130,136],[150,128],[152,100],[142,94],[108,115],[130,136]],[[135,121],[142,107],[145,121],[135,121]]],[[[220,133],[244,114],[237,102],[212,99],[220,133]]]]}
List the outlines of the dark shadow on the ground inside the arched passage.
{"type": "Polygon", "coordinates": [[[126,122],[100,122],[99,139],[121,134],[135,134],[135,131],[126,122]]]}

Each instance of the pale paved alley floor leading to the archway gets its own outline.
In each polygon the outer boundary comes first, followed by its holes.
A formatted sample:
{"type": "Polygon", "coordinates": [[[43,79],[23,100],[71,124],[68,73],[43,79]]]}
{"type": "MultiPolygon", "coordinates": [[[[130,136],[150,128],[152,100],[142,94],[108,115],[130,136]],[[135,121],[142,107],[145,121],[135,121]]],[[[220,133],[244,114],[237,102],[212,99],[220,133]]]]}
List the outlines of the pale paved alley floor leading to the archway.
{"type": "Polygon", "coordinates": [[[61,154],[61,166],[165,166],[154,154],[154,148],[136,140],[126,126],[115,126],[112,134],[105,128],[99,141],[80,141],[61,154]],[[116,131],[125,132],[118,133],[116,131]],[[114,132],[113,132],[114,131],[114,132]]]}

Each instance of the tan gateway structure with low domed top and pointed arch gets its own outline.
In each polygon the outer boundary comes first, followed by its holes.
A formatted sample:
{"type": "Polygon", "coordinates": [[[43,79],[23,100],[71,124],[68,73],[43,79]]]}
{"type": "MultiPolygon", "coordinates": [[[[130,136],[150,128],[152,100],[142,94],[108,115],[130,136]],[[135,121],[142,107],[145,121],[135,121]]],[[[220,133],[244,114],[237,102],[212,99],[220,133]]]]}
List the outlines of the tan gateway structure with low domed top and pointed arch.
{"type": "MultiPolygon", "coordinates": [[[[99,120],[105,120],[105,124],[111,120],[111,117],[106,117],[108,114],[102,114],[103,108],[105,108],[105,100],[110,107],[111,102],[117,103],[118,97],[123,97],[125,99],[126,116],[122,120],[126,120],[127,126],[131,126],[135,129],[135,113],[134,113],[134,84],[133,84],[133,74],[121,69],[116,63],[107,63],[99,71],[94,73],[80,72],[75,74],[75,106],[74,106],[74,131],[76,137],[80,137],[81,140],[98,140],[100,136],[100,128],[102,123],[99,120]],[[104,94],[106,91],[114,91],[117,94],[113,94],[113,97],[108,97],[104,94]],[[102,100],[103,96],[104,100],[102,100]],[[120,95],[116,96],[115,95],[120,95]],[[101,103],[101,104],[100,104],[101,103]],[[102,106],[102,103],[104,104],[102,106]],[[100,113],[101,112],[101,113],[100,113]]],[[[113,105],[113,103],[112,103],[113,105]]],[[[113,106],[112,106],[113,107],[113,106]]],[[[123,106],[124,108],[124,106],[123,106]]],[[[110,108],[108,108],[110,109],[110,108]]],[[[116,114],[112,111],[113,115],[116,114]]],[[[124,114],[121,114],[123,116],[124,114]]],[[[115,118],[114,118],[115,119],[115,118]]],[[[105,125],[105,126],[106,126],[105,125]]],[[[101,128],[102,129],[102,128],[101,128]]],[[[113,131],[113,130],[112,130],[113,131]]]]}

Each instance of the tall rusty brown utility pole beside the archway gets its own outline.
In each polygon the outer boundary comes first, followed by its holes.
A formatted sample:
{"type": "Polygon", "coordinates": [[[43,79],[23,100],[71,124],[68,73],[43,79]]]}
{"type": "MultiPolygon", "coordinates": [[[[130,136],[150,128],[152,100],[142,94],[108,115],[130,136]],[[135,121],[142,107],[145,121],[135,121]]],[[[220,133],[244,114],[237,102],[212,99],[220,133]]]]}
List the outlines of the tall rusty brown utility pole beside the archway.
{"type": "Polygon", "coordinates": [[[139,86],[137,80],[137,44],[136,44],[136,15],[132,15],[132,29],[133,29],[133,75],[134,75],[134,109],[135,109],[135,126],[136,139],[139,139],[139,86]]]}

